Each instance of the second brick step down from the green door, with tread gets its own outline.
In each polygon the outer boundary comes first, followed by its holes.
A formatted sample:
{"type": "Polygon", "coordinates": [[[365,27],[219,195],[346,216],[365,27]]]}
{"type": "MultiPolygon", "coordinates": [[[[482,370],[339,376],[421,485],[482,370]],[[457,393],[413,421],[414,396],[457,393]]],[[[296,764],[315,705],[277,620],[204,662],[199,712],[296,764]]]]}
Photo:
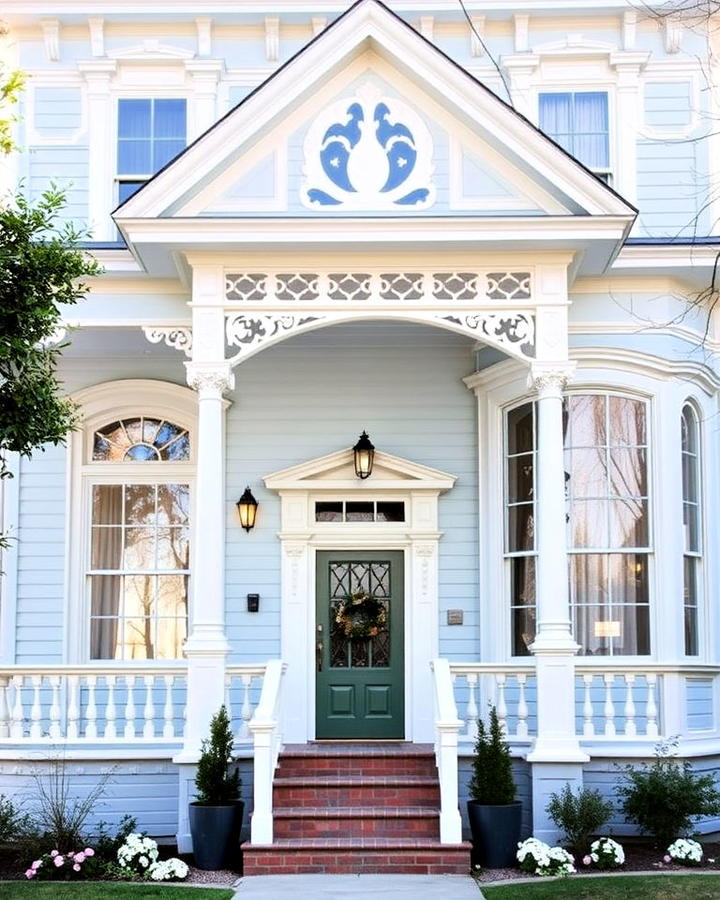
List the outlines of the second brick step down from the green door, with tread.
{"type": "Polygon", "coordinates": [[[427,775],[326,775],[277,778],[273,809],[295,806],[424,806],[438,809],[437,777],[427,775]]]}

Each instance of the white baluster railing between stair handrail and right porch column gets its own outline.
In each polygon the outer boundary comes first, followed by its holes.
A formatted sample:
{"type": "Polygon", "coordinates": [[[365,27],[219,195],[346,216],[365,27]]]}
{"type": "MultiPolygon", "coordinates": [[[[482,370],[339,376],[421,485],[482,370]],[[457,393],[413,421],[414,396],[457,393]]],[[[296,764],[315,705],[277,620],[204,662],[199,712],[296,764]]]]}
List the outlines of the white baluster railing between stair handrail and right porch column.
{"type": "Polygon", "coordinates": [[[534,666],[450,663],[449,667],[464,722],[461,741],[474,743],[478,718],[486,718],[490,705],[497,709],[500,727],[510,741],[527,741],[535,734],[534,666]]]}

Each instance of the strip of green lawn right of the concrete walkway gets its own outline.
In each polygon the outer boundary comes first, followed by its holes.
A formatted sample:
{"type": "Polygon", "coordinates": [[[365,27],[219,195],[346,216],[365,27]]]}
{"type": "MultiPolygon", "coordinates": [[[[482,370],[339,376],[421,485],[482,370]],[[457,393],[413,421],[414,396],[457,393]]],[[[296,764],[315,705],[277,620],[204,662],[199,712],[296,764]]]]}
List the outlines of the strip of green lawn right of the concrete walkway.
{"type": "Polygon", "coordinates": [[[533,884],[489,887],[487,900],[718,900],[717,875],[638,875],[567,878],[533,884]]]}

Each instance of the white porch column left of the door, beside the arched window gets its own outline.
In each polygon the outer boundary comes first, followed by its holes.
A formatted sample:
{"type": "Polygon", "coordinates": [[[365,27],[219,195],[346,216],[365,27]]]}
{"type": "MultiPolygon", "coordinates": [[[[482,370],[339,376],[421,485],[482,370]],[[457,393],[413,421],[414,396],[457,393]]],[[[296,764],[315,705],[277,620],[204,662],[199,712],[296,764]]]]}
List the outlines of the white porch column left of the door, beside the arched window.
{"type": "Polygon", "coordinates": [[[227,363],[188,363],[198,392],[190,635],[185,643],[185,742],[176,762],[194,762],[210,718],[225,701],[225,430],[223,391],[232,388],[227,363]]]}

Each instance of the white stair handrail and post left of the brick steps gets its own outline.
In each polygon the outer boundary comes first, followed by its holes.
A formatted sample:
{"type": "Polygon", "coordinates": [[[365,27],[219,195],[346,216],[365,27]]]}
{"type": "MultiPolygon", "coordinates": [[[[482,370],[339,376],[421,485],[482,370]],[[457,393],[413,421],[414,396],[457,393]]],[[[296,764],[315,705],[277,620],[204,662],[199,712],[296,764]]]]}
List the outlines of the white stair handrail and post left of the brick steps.
{"type": "Polygon", "coordinates": [[[282,744],[280,708],[285,664],[271,659],[265,667],[260,702],[248,729],[253,738],[253,815],[250,840],[253,844],[273,841],[273,777],[282,744]]]}

